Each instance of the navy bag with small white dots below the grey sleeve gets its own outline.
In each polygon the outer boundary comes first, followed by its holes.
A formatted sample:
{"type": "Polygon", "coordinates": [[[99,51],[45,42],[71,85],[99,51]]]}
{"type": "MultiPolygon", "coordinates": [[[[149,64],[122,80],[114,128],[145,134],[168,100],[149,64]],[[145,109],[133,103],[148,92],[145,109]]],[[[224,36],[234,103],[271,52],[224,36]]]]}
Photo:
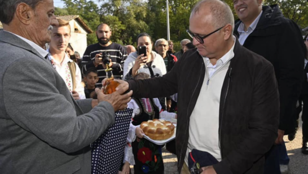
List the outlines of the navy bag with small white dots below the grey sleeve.
{"type": "Polygon", "coordinates": [[[124,147],[133,109],[115,113],[115,124],[111,125],[91,144],[92,173],[117,174],[124,158],[124,147]]]}

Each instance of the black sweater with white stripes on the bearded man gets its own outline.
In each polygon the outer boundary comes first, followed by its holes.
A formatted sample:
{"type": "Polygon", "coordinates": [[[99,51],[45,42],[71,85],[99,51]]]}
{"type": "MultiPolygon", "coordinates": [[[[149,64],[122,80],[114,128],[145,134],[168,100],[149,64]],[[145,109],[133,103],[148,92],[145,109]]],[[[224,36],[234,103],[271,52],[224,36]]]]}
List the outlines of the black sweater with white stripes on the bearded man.
{"type": "MultiPolygon", "coordinates": [[[[112,60],[112,73],[114,78],[116,79],[122,79],[123,78],[123,66],[124,66],[124,61],[127,58],[126,51],[123,46],[117,43],[111,43],[107,47],[101,46],[99,43],[90,45],[87,47],[85,54],[83,56],[83,61],[82,61],[82,73],[83,75],[86,74],[87,69],[91,67],[95,67],[94,61],[95,61],[95,55],[103,52],[107,52],[110,54],[110,59],[112,60]]],[[[105,68],[103,65],[98,65],[96,67],[98,71],[98,77],[99,80],[96,83],[98,87],[102,86],[102,80],[106,78],[106,72],[105,68]]]]}

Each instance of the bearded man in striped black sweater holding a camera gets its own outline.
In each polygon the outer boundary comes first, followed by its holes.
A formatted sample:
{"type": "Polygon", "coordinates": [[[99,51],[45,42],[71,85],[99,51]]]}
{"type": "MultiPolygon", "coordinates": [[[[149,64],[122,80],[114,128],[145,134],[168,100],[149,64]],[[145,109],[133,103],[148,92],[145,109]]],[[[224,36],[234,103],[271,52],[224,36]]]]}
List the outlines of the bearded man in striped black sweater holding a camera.
{"type": "Polygon", "coordinates": [[[112,31],[107,24],[100,24],[96,31],[98,43],[88,46],[83,56],[83,75],[89,68],[95,67],[99,77],[96,85],[99,87],[102,86],[101,81],[106,77],[106,65],[102,63],[102,54],[105,51],[110,54],[109,66],[113,69],[114,78],[122,79],[123,77],[123,66],[127,54],[123,46],[110,41],[111,34],[112,31]]]}

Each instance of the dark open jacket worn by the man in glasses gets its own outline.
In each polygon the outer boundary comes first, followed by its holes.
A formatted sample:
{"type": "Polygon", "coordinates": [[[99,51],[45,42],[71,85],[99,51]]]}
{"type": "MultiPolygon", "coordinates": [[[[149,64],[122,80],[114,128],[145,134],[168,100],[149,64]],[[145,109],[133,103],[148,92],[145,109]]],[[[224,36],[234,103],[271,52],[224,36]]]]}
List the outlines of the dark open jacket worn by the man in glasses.
{"type": "MultiPolygon", "coordinates": [[[[235,56],[225,75],[219,106],[219,142],[222,161],[217,174],[263,174],[264,154],[277,137],[278,85],[273,65],[236,40],[235,56]]],[[[178,93],[176,150],[178,171],[186,155],[189,121],[202,88],[205,64],[196,49],[185,52],[163,77],[131,80],[136,98],[157,98],[178,93]]]]}

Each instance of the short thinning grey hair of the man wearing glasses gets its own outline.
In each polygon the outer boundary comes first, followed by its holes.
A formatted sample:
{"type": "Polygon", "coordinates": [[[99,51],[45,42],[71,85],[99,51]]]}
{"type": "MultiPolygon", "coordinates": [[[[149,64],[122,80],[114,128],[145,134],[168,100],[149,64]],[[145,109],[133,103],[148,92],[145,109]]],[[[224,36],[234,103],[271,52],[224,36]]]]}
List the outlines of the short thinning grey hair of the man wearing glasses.
{"type": "Polygon", "coordinates": [[[215,28],[223,27],[227,24],[232,26],[232,33],[234,31],[234,16],[230,7],[223,1],[219,0],[201,0],[193,8],[191,14],[198,13],[200,8],[209,5],[212,15],[212,23],[215,28]]]}

